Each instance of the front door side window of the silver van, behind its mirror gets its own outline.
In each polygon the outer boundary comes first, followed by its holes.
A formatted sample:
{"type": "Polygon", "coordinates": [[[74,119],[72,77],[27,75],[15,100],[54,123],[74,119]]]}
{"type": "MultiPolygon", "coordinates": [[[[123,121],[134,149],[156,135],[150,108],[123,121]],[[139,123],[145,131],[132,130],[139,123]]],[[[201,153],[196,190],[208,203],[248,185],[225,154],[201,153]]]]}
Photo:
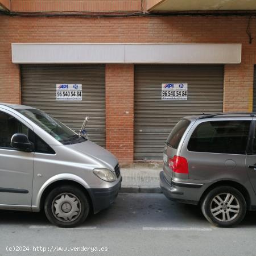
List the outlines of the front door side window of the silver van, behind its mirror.
{"type": "Polygon", "coordinates": [[[0,147],[13,149],[11,137],[15,133],[24,133],[28,136],[28,127],[12,115],[0,112],[0,147]]]}

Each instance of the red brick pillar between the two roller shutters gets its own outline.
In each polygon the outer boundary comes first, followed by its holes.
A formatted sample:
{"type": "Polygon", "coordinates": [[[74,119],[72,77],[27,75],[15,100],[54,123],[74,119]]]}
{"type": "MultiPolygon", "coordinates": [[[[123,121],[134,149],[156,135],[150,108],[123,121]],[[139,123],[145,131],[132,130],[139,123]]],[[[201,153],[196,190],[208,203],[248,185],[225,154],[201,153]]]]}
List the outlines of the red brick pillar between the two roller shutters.
{"type": "Polygon", "coordinates": [[[133,162],[133,64],[106,65],[106,148],[133,162]]]}

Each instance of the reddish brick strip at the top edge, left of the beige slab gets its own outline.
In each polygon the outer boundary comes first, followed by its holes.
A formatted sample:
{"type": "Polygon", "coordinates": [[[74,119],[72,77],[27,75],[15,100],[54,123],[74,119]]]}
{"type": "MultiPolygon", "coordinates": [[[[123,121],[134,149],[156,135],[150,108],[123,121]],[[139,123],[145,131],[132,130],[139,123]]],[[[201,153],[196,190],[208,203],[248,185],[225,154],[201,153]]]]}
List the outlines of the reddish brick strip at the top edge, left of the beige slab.
{"type": "Polygon", "coordinates": [[[141,11],[141,0],[11,0],[11,11],[141,11]]]}

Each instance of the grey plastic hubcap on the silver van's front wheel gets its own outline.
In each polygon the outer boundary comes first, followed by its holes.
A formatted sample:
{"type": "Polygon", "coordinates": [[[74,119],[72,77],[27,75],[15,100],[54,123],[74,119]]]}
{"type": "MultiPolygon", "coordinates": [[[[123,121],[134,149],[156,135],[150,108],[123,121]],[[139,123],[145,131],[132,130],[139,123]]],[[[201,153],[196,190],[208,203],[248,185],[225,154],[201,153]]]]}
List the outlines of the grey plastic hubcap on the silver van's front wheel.
{"type": "Polygon", "coordinates": [[[59,221],[75,221],[81,213],[81,202],[72,193],[61,193],[52,201],[52,213],[59,221]]]}

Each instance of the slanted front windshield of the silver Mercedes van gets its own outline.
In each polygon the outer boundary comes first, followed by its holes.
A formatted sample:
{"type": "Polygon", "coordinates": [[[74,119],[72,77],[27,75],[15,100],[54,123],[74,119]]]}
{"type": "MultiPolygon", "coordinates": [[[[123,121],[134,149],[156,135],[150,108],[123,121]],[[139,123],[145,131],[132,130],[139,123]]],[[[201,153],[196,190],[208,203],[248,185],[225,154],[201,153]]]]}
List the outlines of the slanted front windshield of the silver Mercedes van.
{"type": "Polygon", "coordinates": [[[86,141],[85,138],[72,131],[60,121],[50,117],[38,109],[16,109],[20,114],[30,119],[53,138],[63,144],[75,144],[86,141]]]}

